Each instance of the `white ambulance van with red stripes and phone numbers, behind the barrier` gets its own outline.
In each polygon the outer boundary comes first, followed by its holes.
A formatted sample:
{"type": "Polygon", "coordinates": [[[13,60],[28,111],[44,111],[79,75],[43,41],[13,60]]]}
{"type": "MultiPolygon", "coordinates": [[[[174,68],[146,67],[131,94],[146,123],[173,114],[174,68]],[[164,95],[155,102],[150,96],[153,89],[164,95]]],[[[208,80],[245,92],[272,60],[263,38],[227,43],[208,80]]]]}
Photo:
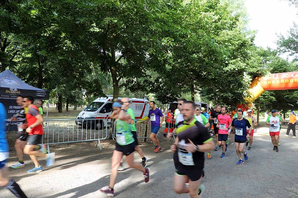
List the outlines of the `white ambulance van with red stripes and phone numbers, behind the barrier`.
{"type": "MultiPolygon", "coordinates": [[[[118,98],[121,99],[121,98],[118,98]]],[[[136,119],[142,119],[148,116],[150,106],[147,99],[130,98],[129,108],[134,111],[136,119]]],[[[77,119],[106,119],[108,127],[111,124],[111,113],[112,113],[113,96],[100,97],[91,102],[83,111],[79,113],[77,119]]],[[[76,120],[76,124],[87,127],[95,126],[95,128],[101,129],[105,126],[105,122],[98,120],[81,121],[76,120]]]]}

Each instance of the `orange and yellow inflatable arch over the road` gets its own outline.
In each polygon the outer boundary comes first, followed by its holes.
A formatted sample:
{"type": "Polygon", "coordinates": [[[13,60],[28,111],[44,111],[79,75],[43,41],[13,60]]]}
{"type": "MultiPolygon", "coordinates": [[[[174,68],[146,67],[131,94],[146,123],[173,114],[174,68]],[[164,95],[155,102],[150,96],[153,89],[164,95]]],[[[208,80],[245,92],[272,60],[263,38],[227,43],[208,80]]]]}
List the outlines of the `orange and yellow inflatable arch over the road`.
{"type": "Polygon", "coordinates": [[[298,89],[298,71],[256,77],[250,86],[250,97],[246,98],[247,102],[253,102],[264,91],[298,89]]]}

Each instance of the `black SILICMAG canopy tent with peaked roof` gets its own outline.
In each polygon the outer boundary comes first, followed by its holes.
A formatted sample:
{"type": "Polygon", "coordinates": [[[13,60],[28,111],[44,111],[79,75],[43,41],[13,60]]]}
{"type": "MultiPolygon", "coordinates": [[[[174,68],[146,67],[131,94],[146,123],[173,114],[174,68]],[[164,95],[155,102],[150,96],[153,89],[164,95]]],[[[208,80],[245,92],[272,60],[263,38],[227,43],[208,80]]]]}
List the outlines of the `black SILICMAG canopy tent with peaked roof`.
{"type": "MultiPolygon", "coordinates": [[[[46,118],[48,117],[49,109],[49,91],[39,89],[28,85],[19,79],[9,69],[0,73],[0,102],[3,103],[7,110],[7,119],[15,116],[19,112],[19,106],[15,103],[18,95],[32,96],[35,100],[48,100],[46,118]]],[[[11,123],[15,125],[15,123],[11,123]]],[[[8,123],[7,123],[8,126],[8,123]]],[[[16,127],[10,130],[15,130],[16,127]]]]}

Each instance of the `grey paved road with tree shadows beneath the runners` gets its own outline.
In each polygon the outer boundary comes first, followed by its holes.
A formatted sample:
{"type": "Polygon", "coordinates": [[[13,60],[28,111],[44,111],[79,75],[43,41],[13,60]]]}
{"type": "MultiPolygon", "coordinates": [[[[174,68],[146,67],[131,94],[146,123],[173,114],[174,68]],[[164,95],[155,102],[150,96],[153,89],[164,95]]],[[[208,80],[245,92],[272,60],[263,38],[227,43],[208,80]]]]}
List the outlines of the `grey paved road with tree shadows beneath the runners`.
{"type": "MultiPolygon", "coordinates": [[[[265,130],[265,129],[264,129],[265,130]]],[[[268,132],[268,128],[266,128],[268,132]]],[[[265,132],[265,131],[264,131],[265,132]]],[[[202,198],[273,198],[288,197],[286,187],[293,186],[297,181],[297,149],[298,139],[281,137],[280,152],[272,151],[269,136],[260,135],[259,130],[254,136],[249,160],[236,165],[238,161],[233,142],[234,135],[230,135],[230,145],[226,158],[220,158],[221,151],[212,152],[212,157],[206,160],[205,177],[203,183],[206,192],[202,198]]],[[[153,153],[153,145],[142,145],[147,156],[148,166],[152,169],[149,183],[144,183],[142,173],[133,169],[119,172],[115,192],[119,198],[142,197],[161,198],[189,197],[188,194],[176,195],[173,188],[171,144],[162,138],[163,151],[153,153]]],[[[172,141],[173,142],[173,141],[172,141]]],[[[34,165],[26,156],[27,166],[21,169],[10,169],[9,175],[17,181],[29,197],[66,198],[66,197],[106,197],[99,189],[109,183],[111,155],[113,146],[103,150],[91,147],[92,144],[76,143],[70,148],[52,146],[57,153],[55,166],[46,168],[36,174],[27,174],[27,170],[34,165]],[[77,148],[76,148],[77,146],[77,148]]],[[[141,159],[135,152],[136,161],[141,159]]],[[[17,160],[15,155],[9,158],[8,165],[17,160]]],[[[44,165],[45,161],[41,160],[44,165]]],[[[13,197],[6,189],[0,189],[0,197],[13,197]]]]}

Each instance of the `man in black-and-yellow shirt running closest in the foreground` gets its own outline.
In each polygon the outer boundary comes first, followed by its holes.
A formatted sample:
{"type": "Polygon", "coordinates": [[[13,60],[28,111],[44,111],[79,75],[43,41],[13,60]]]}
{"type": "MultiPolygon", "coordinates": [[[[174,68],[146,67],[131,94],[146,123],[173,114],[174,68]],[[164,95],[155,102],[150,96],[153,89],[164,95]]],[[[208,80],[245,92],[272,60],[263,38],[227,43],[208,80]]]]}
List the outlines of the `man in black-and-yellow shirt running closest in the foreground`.
{"type": "MultiPolygon", "coordinates": [[[[201,185],[204,177],[204,152],[214,148],[214,142],[206,128],[194,119],[195,103],[185,101],[183,105],[184,121],[178,124],[177,138],[170,147],[174,153],[176,168],[174,191],[177,194],[189,193],[192,198],[200,198],[204,190],[201,185]],[[189,185],[186,185],[189,181],[189,185]]],[[[171,133],[168,134],[168,137],[171,133]]]]}

